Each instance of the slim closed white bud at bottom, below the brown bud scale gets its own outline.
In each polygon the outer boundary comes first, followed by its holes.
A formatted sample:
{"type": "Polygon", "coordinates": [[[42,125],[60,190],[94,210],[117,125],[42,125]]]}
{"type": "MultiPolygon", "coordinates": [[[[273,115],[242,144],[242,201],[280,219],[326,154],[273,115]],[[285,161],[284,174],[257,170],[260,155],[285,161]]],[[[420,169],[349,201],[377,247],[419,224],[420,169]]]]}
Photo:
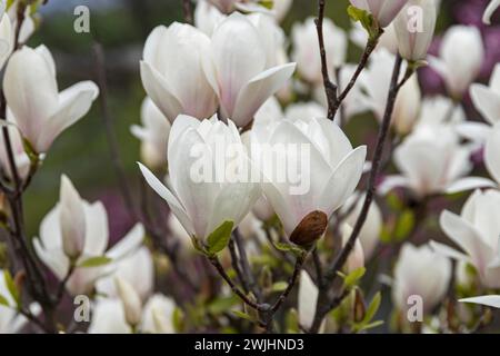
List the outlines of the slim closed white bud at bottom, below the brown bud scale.
{"type": "Polygon", "coordinates": [[[316,315],[316,305],[318,303],[318,287],[312,281],[311,277],[306,270],[300,273],[299,283],[299,324],[304,329],[310,329],[316,315]]]}

